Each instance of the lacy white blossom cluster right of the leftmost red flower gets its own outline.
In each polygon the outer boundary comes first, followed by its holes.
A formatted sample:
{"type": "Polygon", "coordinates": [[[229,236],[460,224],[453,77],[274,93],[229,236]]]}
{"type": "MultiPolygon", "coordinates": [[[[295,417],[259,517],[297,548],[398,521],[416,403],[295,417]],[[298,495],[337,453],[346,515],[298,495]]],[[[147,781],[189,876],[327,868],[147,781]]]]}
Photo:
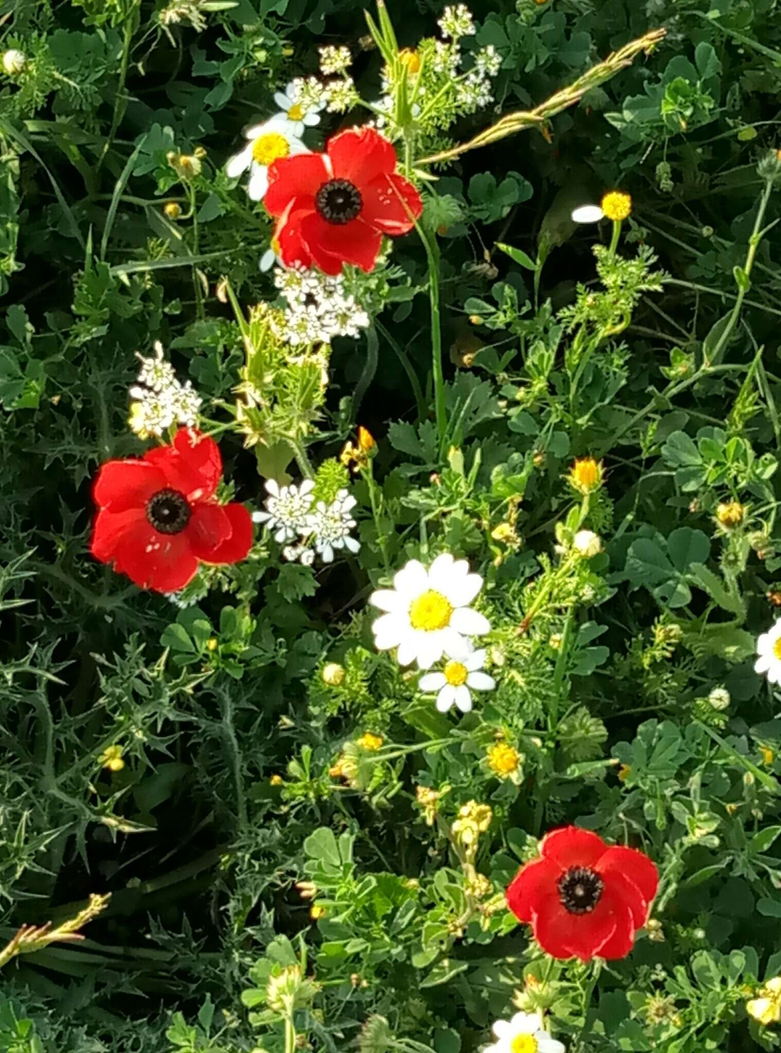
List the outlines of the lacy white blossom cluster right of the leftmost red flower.
{"type": "Polygon", "coordinates": [[[333,501],[314,504],[314,483],[307,479],[300,486],[280,486],[274,479],[266,480],[269,496],[263,502],[265,512],[253,512],[256,523],[265,523],[274,540],[285,544],[282,556],[311,567],[315,556],[324,563],[332,563],[341,549],[356,553],[360,542],[352,536],[356,523],[352,510],[355,498],[340,490],[333,501]],[[286,542],[294,542],[286,544],[286,542]]]}

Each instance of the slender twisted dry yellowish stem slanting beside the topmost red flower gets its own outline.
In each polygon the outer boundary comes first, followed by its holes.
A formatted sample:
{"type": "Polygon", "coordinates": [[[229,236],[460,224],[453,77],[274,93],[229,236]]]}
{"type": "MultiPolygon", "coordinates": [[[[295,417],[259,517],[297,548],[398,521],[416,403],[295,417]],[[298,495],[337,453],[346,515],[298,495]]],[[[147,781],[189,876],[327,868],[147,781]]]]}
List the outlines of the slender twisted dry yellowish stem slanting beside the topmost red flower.
{"type": "Polygon", "coordinates": [[[452,161],[462,154],[466,154],[469,150],[487,146],[491,142],[496,142],[497,139],[505,139],[507,136],[514,135],[516,132],[522,132],[528,127],[539,127],[545,135],[547,131],[545,125],[549,118],[554,117],[555,114],[560,114],[569,106],[573,106],[577,102],[580,102],[590,88],[604,84],[606,80],[614,77],[617,73],[631,65],[634,58],[641,52],[644,52],[646,55],[650,54],[664,38],[665,33],[666,31],[663,28],[651,29],[645,36],[639,37],[637,40],[632,40],[630,43],[619,48],[618,52],[613,52],[604,62],[592,66],[582,77],[579,77],[574,83],[562,88],[561,92],[557,92],[555,95],[551,95],[547,101],[541,103],[534,110],[520,110],[513,114],[506,114],[495,124],[481,132],[480,135],[476,135],[468,142],[462,142],[457,146],[453,146],[452,150],[444,150],[440,154],[432,154],[431,157],[424,157],[415,163],[434,164],[440,161],[452,161]]]}

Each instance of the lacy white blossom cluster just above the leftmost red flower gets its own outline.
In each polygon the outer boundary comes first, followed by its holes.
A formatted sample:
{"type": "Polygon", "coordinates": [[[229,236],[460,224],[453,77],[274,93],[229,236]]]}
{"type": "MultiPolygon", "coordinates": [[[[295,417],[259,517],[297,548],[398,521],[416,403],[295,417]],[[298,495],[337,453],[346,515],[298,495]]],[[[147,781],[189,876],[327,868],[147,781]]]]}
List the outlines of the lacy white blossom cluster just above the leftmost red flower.
{"type": "Polygon", "coordinates": [[[141,363],[138,383],[130,390],[133,401],[128,423],[141,439],[159,437],[172,424],[193,428],[202,401],[189,380],[182,384],[176,379],[159,340],[154,346],[154,358],[137,356],[141,363]]]}

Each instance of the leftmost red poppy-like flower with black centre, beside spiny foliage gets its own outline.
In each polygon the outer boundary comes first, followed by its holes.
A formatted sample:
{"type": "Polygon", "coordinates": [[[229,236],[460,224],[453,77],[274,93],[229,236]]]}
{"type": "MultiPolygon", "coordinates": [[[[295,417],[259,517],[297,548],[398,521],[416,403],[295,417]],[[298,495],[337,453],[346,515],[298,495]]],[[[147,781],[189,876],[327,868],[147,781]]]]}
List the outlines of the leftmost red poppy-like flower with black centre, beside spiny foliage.
{"type": "Polygon", "coordinates": [[[182,428],[170,446],[106,461],[95,480],[91,552],[141,589],[176,592],[198,563],[237,563],[252,544],[243,504],[218,504],[217,443],[182,428]]]}

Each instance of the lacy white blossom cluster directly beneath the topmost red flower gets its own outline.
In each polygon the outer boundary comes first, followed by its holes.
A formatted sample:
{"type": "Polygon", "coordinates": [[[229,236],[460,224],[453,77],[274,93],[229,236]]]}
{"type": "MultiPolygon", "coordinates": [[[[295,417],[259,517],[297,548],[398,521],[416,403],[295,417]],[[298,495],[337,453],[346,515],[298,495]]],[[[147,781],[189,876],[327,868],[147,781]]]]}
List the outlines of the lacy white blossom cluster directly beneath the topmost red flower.
{"type": "Polygon", "coordinates": [[[330,343],[335,336],[357,337],[369,315],[345,290],[341,275],[276,267],[274,284],[288,301],[276,335],[292,346],[330,343]]]}

